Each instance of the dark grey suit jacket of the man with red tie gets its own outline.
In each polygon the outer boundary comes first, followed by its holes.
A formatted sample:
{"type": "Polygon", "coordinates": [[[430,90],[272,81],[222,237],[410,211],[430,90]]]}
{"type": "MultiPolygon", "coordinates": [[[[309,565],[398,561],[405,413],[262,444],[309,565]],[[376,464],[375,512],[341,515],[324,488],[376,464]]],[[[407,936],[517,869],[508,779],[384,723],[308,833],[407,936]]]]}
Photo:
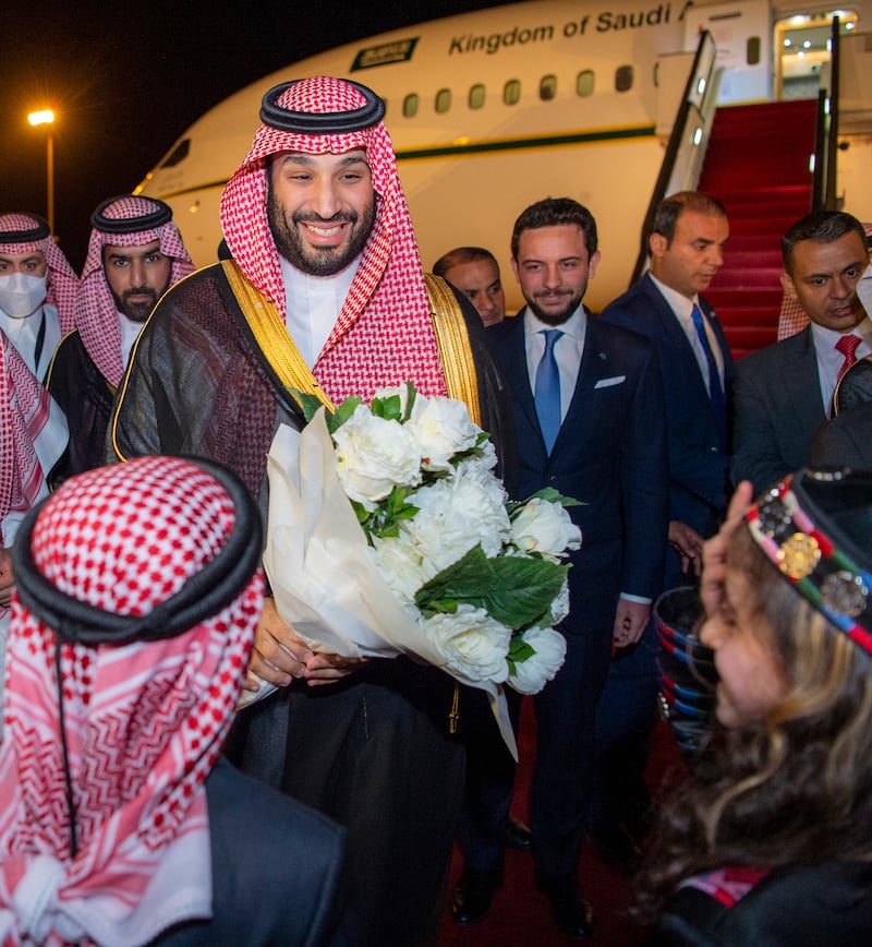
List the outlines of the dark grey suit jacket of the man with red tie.
{"type": "Polygon", "coordinates": [[[811,326],[746,356],[736,365],[732,482],[754,492],[806,467],[826,420],[811,326]]]}

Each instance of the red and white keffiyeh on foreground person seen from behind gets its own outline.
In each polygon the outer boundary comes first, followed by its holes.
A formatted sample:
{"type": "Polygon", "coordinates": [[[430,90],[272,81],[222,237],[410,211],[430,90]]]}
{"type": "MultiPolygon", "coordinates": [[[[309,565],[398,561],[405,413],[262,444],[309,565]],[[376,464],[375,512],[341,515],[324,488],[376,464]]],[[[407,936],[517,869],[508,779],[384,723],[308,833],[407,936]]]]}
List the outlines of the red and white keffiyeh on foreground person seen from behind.
{"type": "MultiPolygon", "coordinates": [[[[68,480],[31,549],[61,592],[148,614],[222,550],[235,511],[190,461],[143,457],[68,480]]],[[[60,741],[56,635],[13,599],[0,747],[0,940],[145,944],[208,918],[204,781],[230,727],[263,606],[263,578],[177,637],[62,644],[63,714],[78,852],[60,741]]]]}

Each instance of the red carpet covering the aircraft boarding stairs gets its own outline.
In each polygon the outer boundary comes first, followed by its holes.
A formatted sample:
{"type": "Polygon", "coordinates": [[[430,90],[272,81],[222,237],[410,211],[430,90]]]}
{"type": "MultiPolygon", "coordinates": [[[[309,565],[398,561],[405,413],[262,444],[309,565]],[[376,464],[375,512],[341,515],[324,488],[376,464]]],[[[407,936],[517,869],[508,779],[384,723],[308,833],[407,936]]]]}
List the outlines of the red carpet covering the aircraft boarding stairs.
{"type": "Polygon", "coordinates": [[[776,340],[780,240],[811,211],[818,103],[719,108],[699,190],[727,208],[730,239],[706,299],[740,358],[776,340]]]}

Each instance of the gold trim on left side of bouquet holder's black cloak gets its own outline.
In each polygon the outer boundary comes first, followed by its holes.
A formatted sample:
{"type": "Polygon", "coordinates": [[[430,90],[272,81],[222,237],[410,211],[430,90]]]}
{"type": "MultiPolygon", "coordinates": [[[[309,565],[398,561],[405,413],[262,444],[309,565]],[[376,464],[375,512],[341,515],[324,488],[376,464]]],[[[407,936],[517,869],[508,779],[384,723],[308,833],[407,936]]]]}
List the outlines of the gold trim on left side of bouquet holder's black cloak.
{"type": "Polygon", "coordinates": [[[221,262],[227,281],[249,323],[258,348],[269,362],[281,384],[294,396],[296,392],[315,395],[330,411],[336,410],[324,388],[300,355],[278,310],[272,302],[242,275],[233,260],[221,262]]]}

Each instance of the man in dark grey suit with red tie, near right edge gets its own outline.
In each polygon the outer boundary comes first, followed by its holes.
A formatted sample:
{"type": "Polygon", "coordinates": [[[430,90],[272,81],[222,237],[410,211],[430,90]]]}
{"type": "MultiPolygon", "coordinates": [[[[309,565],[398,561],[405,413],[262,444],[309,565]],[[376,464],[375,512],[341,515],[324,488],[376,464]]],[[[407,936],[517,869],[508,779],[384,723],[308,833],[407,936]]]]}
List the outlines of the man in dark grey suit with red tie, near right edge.
{"type": "Polygon", "coordinates": [[[782,285],[810,324],[736,365],[732,480],[764,490],[809,463],[839,375],[872,352],[872,322],[857,297],[865,230],[850,214],[821,211],[782,239],[782,285]]]}

